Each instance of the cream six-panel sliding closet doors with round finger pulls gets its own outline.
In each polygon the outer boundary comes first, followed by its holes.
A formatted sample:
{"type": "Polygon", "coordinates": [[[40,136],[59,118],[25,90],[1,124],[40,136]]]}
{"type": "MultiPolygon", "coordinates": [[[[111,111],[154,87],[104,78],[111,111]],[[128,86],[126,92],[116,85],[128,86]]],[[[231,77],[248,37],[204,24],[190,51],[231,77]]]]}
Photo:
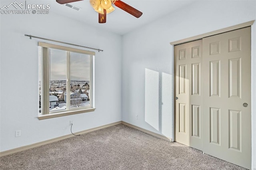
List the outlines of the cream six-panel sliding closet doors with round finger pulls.
{"type": "Polygon", "coordinates": [[[174,47],[175,140],[248,169],[250,32],[248,27],[174,47]]]}

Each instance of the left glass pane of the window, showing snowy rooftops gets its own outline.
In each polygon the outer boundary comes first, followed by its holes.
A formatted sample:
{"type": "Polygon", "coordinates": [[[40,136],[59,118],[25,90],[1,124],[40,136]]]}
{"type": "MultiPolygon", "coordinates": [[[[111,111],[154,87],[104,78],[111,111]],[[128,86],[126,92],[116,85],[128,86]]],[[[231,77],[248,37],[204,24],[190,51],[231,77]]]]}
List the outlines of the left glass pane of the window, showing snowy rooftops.
{"type": "Polygon", "coordinates": [[[50,49],[49,110],[66,110],[66,51],[50,49]]]}

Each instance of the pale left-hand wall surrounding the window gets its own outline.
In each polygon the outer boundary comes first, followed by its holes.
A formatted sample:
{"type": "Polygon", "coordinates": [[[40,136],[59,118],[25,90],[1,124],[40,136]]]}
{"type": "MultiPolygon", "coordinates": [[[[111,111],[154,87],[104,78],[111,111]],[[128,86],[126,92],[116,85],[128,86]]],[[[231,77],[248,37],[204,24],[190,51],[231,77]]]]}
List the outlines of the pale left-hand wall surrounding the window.
{"type": "Polygon", "coordinates": [[[1,14],[0,29],[0,151],[70,134],[70,120],[73,132],[121,121],[121,36],[53,12],[1,14]],[[95,56],[94,112],[38,120],[38,41],[47,41],[24,34],[104,50],[95,56]]]}

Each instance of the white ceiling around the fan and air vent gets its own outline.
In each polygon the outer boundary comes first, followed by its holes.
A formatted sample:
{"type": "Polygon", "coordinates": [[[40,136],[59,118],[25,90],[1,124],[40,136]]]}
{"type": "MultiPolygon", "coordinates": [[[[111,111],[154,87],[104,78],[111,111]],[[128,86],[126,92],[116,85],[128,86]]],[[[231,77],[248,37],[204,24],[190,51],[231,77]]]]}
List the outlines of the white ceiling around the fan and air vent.
{"type": "Polygon", "coordinates": [[[84,22],[90,26],[104,28],[116,34],[124,35],[136,28],[148,24],[158,18],[164,17],[183,6],[192,3],[191,0],[122,0],[126,4],[136,8],[143,14],[136,18],[120,8],[114,6],[114,12],[107,14],[105,24],[98,23],[98,13],[90,6],[89,0],[72,2],[70,4],[81,8],[79,11],[74,10],[55,0],[47,1],[50,4],[50,12],[84,22]]]}

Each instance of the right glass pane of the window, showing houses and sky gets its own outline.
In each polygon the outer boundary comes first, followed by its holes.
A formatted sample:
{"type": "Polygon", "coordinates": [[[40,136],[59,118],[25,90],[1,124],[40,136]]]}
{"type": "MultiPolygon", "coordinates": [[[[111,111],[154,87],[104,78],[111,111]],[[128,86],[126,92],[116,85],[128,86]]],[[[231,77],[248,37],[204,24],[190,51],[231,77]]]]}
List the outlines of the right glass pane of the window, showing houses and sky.
{"type": "Polygon", "coordinates": [[[90,55],[70,52],[70,108],[90,106],[90,55]]]}

